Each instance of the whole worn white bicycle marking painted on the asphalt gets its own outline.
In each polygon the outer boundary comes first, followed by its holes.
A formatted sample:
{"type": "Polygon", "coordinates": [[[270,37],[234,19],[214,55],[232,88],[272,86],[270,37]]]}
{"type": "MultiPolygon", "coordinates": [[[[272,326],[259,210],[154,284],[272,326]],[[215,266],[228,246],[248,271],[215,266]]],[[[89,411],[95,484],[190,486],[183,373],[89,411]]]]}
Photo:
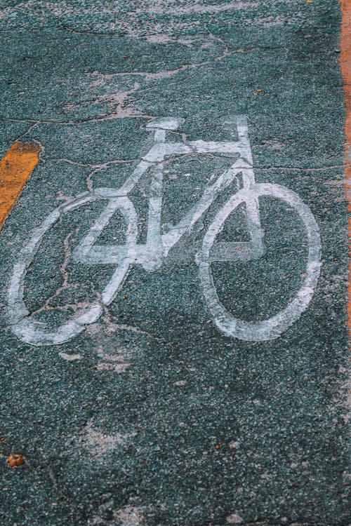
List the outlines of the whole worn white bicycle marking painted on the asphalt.
{"type": "MultiPolygon", "coordinates": [[[[172,122],[172,120],[173,119],[171,118],[168,119],[169,122],[172,122]]],[[[216,194],[225,189],[237,174],[242,173],[244,187],[241,191],[237,191],[233,194],[230,201],[227,201],[226,205],[218,211],[216,219],[210,225],[208,232],[205,235],[204,246],[201,252],[202,255],[199,257],[198,262],[201,288],[204,292],[204,297],[208,309],[211,312],[213,321],[216,323],[217,327],[228,336],[244,339],[246,341],[267,341],[279,337],[282,332],[292,325],[294,321],[300,317],[300,314],[305,311],[312,299],[319,278],[319,269],[321,265],[319,227],[315,222],[310,209],[303,203],[303,201],[300,201],[297,194],[294,194],[292,191],[289,191],[289,189],[286,189],[286,187],[278,186],[277,184],[255,183],[246,117],[236,117],[234,121],[230,121],[230,123],[235,123],[235,126],[237,127],[238,135],[240,137],[239,142],[205,142],[198,140],[185,144],[178,144],[164,142],[165,133],[162,133],[161,137],[159,137],[158,133],[157,141],[155,143],[157,147],[154,144],[147,156],[145,156],[145,159],[148,159],[148,163],[151,163],[160,161],[161,159],[163,160],[166,153],[169,151],[181,151],[183,153],[184,149],[185,151],[192,149],[199,154],[213,151],[222,154],[235,153],[238,151],[240,154],[239,159],[232,164],[229,170],[225,170],[211,187],[206,187],[199,202],[194,205],[190,212],[185,215],[185,218],[181,220],[178,225],[175,225],[171,232],[168,233],[170,236],[164,238],[161,236],[159,229],[161,225],[162,166],[157,166],[157,172],[154,173],[152,177],[149,223],[145,245],[137,245],[135,242],[138,234],[137,216],[133,204],[129,201],[128,197],[121,196],[109,200],[105,210],[102,211],[91,229],[89,229],[88,235],[81,241],[78,248],[74,250],[78,261],[84,264],[119,263],[110,282],[102,292],[102,304],[109,305],[112,303],[117,292],[121,286],[124,285],[124,281],[133,262],[141,263],[143,267],[149,271],[158,268],[159,262],[157,254],[159,250],[160,257],[166,257],[168,250],[180,239],[181,236],[183,236],[183,234],[185,234],[186,231],[189,231],[194,223],[199,220],[201,215],[206,212],[216,197],[216,194]],[[245,166],[244,170],[242,170],[242,166],[245,166]],[[234,318],[220,303],[220,299],[216,292],[216,286],[213,283],[209,257],[213,242],[222,229],[225,220],[240,203],[246,204],[247,222],[251,225],[249,228],[251,242],[249,245],[247,245],[247,243],[244,245],[246,248],[249,248],[249,251],[246,252],[246,255],[249,255],[248,260],[251,259],[250,255],[254,258],[254,254],[263,253],[263,234],[260,228],[260,217],[258,212],[259,196],[275,196],[276,198],[280,198],[282,201],[289,203],[296,209],[297,213],[303,220],[303,224],[307,231],[309,259],[307,262],[305,281],[303,282],[302,288],[298,291],[296,298],[289,303],[286,309],[277,313],[277,315],[265,319],[264,321],[253,323],[243,321],[240,318],[234,318]],[[126,235],[129,241],[125,245],[126,248],[124,249],[119,245],[95,245],[102,230],[107,227],[112,215],[114,215],[117,209],[119,209],[122,215],[124,215],[126,224],[128,224],[126,235]],[[91,254],[91,250],[93,250],[93,255],[91,254]],[[121,252],[121,250],[125,250],[124,257],[121,259],[119,255],[119,259],[116,259],[115,254],[121,252]],[[154,258],[157,260],[156,267],[154,267],[154,264],[152,263],[154,258]]],[[[151,123],[149,127],[160,128],[160,123],[159,121],[156,121],[154,124],[151,123]]],[[[162,132],[164,132],[164,130],[162,130],[162,132]]],[[[143,162],[144,161],[142,161],[142,163],[143,162]]],[[[145,173],[145,170],[140,170],[140,164],[135,170],[138,174],[138,178],[145,173]]],[[[129,178],[130,180],[135,181],[135,170],[129,178]]],[[[64,205],[63,207],[60,206],[54,210],[53,213],[51,213],[51,215],[49,215],[46,220],[37,227],[37,229],[34,230],[29,239],[29,243],[25,245],[20,253],[18,263],[15,264],[13,269],[13,276],[8,290],[8,311],[11,313],[10,316],[11,322],[13,323],[13,332],[15,332],[15,334],[26,343],[39,346],[68,342],[84,330],[84,325],[95,323],[102,314],[101,305],[94,303],[89,309],[84,309],[83,313],[80,313],[79,316],[74,316],[72,320],[64,325],[60,325],[59,328],[52,332],[50,329],[44,328],[43,323],[39,326],[38,322],[35,321],[27,311],[23,299],[23,283],[27,273],[27,268],[32,264],[33,257],[39,248],[41,239],[44,234],[46,234],[46,231],[48,231],[48,229],[59,220],[60,215],[69,209],[78,208],[79,205],[95,201],[99,195],[107,198],[109,194],[110,196],[121,194],[121,189],[111,190],[109,188],[100,188],[97,193],[85,194],[83,200],[82,197],[79,196],[78,198],[75,198],[74,201],[71,201],[71,203],[67,203],[67,205],[64,205]]],[[[225,248],[225,246],[226,244],[222,244],[222,248],[225,248]]],[[[230,246],[232,246],[232,243],[230,243],[230,246]]],[[[227,259],[231,260],[229,253],[227,253],[227,259]]],[[[234,259],[232,260],[237,259],[242,259],[242,256],[239,255],[239,257],[237,257],[236,252],[234,251],[234,259]]]]}

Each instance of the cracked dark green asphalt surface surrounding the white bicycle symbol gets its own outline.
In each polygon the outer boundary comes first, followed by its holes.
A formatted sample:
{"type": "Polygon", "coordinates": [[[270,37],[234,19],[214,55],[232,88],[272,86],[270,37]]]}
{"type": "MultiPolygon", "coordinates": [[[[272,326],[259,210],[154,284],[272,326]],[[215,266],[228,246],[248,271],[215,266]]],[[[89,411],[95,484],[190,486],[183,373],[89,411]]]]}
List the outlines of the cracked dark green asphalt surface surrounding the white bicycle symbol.
{"type": "MultiPolygon", "coordinates": [[[[43,148],[0,233],[1,526],[350,524],[339,24],[336,0],[0,2],[0,156],[15,140],[43,148]],[[319,224],[322,272],[298,321],[270,342],[211,323],[194,253],[228,188],[171,263],[133,267],[81,335],[20,341],[6,295],[32,229],[87,189],[119,187],[150,149],[152,118],[185,119],[170,140],[218,141],[232,114],[247,116],[256,181],[295,191],[319,224]],[[11,452],[25,466],[10,468],[11,452]]],[[[225,167],[168,161],[162,222],[180,220],[225,167]]],[[[146,177],[131,196],[140,242],[149,194],[146,177]]],[[[38,313],[50,323],[112,276],[69,260],[99,206],[64,217],[29,268],[27,305],[52,307],[38,313]]],[[[293,209],[263,198],[260,213],[265,255],[213,266],[223,304],[251,320],[284,308],[307,255],[293,209]]],[[[118,242],[113,226],[100,243],[118,242]]],[[[239,210],[223,236],[246,235],[239,210]]]]}

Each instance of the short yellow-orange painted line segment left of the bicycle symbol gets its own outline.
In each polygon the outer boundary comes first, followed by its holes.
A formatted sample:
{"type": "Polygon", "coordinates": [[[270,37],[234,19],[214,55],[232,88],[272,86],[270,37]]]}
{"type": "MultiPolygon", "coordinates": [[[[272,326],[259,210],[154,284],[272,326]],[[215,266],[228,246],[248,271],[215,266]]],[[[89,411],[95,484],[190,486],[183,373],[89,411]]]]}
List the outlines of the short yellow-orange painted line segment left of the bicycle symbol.
{"type": "Polygon", "coordinates": [[[39,163],[38,144],[15,142],[0,163],[0,230],[39,163]]]}

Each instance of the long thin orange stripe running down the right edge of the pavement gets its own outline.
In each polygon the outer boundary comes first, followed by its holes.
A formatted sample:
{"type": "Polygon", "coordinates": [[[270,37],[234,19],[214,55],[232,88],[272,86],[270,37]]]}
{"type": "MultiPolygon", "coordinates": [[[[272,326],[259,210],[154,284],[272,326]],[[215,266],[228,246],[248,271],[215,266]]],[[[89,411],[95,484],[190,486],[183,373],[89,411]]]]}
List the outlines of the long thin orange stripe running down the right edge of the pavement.
{"type": "Polygon", "coordinates": [[[340,38],[340,67],[343,74],[345,93],[345,191],[348,201],[349,235],[349,285],[348,285],[348,327],[351,332],[351,4],[350,0],[340,0],[343,16],[340,38]]]}

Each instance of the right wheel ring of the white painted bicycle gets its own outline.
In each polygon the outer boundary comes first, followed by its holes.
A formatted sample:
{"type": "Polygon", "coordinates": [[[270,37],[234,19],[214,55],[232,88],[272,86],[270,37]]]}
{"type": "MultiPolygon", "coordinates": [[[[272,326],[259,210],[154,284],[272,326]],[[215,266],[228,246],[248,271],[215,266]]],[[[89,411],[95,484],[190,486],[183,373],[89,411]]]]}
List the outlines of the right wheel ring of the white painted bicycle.
{"type": "Polygon", "coordinates": [[[319,227],[310,208],[303,203],[295,192],[278,184],[256,184],[252,189],[243,189],[237,194],[234,194],[227,203],[223,205],[223,208],[218,211],[204,236],[202,248],[198,255],[198,264],[201,290],[204,294],[206,305],[208,306],[214,323],[216,323],[217,327],[223,331],[225,335],[248,342],[275,339],[298,320],[301,313],[307,309],[314,294],[321,267],[319,227]],[[307,236],[307,262],[300,288],[292,301],[289,302],[284,309],[262,321],[246,321],[233,316],[220,301],[213,280],[210,252],[213,243],[216,242],[216,237],[223,230],[227,217],[229,217],[239,205],[251,199],[257,200],[261,197],[273,197],[283,201],[300,218],[305,235],[307,236]]]}

